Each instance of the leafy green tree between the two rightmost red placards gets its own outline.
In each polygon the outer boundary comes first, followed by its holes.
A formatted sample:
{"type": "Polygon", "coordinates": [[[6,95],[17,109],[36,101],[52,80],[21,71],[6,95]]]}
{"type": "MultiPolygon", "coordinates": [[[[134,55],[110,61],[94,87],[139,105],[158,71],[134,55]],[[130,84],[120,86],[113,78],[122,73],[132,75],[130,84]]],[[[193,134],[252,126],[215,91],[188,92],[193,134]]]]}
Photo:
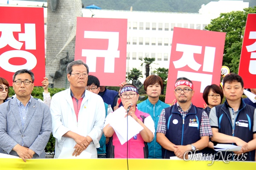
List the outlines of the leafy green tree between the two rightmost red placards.
{"type": "Polygon", "coordinates": [[[205,27],[209,31],[226,32],[222,65],[230,68],[230,72],[238,73],[244,28],[248,13],[256,13],[256,6],[244,8],[244,11],[221,13],[205,27]]]}

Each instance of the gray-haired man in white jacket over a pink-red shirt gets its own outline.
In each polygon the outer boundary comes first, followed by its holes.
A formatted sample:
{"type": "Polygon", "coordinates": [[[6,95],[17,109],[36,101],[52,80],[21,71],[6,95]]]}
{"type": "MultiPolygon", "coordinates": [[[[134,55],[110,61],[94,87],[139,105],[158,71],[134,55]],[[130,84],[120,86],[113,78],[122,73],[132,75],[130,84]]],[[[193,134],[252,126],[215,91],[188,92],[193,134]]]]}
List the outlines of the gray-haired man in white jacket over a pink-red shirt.
{"type": "Polygon", "coordinates": [[[73,156],[82,151],[97,158],[99,140],[105,119],[102,98],[85,90],[89,68],[82,60],[67,65],[70,88],[52,96],[52,134],[56,138],[55,158],[63,147],[75,148],[73,156]]]}

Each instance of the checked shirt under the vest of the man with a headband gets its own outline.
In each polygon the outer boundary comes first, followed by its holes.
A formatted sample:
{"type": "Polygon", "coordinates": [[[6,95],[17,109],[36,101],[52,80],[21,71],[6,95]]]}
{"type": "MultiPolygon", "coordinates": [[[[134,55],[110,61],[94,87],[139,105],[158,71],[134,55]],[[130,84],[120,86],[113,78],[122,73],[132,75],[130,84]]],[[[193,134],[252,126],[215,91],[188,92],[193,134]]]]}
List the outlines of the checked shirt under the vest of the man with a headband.
{"type": "MultiPolygon", "coordinates": [[[[178,107],[178,111],[180,112],[181,116],[183,119],[185,119],[185,116],[187,113],[189,113],[192,103],[190,104],[190,107],[187,111],[183,111],[182,108],[180,108],[180,105],[178,103],[176,103],[177,107],[178,107]]],[[[165,119],[165,110],[163,109],[163,111],[160,114],[160,118],[157,124],[157,133],[163,133],[166,134],[166,119],[165,119]]],[[[209,123],[209,118],[207,116],[207,113],[205,111],[203,111],[202,113],[202,119],[201,119],[201,124],[200,124],[200,137],[202,136],[209,136],[212,137],[212,128],[210,126],[209,123]]]]}

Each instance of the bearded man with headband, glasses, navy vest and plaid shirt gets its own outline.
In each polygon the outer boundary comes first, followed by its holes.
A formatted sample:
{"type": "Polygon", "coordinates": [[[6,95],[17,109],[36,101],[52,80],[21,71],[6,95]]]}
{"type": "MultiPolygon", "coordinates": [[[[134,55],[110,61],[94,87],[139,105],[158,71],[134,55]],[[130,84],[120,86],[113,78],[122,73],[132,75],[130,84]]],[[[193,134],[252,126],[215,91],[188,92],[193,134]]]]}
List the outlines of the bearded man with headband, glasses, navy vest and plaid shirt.
{"type": "Polygon", "coordinates": [[[192,151],[198,153],[208,146],[212,130],[207,113],[195,107],[192,102],[193,83],[186,77],[175,82],[177,103],[163,109],[157,125],[157,142],[162,146],[162,158],[177,156],[188,159],[192,151]]]}

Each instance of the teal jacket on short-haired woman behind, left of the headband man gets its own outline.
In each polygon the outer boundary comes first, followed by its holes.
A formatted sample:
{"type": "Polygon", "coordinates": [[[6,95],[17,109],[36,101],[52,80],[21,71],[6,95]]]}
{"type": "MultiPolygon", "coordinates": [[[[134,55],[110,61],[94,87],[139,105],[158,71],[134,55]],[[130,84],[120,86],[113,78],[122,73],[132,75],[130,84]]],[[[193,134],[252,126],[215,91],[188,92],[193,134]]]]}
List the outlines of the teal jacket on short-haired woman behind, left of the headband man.
{"type": "MultiPolygon", "coordinates": [[[[155,130],[157,131],[157,123],[160,117],[160,114],[164,108],[170,107],[170,105],[158,100],[155,105],[152,105],[148,99],[139,103],[137,105],[140,111],[150,114],[154,120],[155,130]]],[[[154,139],[152,142],[148,143],[148,158],[159,158],[162,159],[162,147],[157,142],[157,135],[155,132],[154,139]]]]}

